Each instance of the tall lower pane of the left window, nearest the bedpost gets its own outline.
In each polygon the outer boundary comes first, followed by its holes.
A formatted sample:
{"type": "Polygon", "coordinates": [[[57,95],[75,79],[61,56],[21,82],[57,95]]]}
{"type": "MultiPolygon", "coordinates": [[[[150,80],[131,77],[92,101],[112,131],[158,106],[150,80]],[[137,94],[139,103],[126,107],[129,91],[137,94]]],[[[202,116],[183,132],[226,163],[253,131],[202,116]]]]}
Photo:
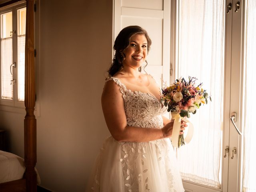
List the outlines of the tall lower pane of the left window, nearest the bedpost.
{"type": "Polygon", "coordinates": [[[18,100],[24,101],[25,94],[25,35],[18,36],[18,100]]]}

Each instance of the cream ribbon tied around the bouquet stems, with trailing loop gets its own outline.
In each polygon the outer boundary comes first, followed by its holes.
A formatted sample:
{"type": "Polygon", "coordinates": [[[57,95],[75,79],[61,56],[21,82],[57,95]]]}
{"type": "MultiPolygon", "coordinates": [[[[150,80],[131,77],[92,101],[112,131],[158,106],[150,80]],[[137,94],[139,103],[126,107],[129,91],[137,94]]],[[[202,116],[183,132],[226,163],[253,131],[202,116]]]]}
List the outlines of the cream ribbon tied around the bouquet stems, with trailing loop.
{"type": "Polygon", "coordinates": [[[172,114],[172,119],[174,119],[174,124],[173,124],[173,129],[172,129],[172,138],[170,138],[170,139],[171,139],[172,145],[174,147],[178,148],[181,120],[188,123],[188,127],[186,127],[186,129],[188,129],[188,131],[187,131],[186,137],[184,138],[184,141],[186,144],[188,144],[193,137],[194,126],[188,120],[188,118],[181,117],[179,113],[171,112],[171,114],[172,114]]]}

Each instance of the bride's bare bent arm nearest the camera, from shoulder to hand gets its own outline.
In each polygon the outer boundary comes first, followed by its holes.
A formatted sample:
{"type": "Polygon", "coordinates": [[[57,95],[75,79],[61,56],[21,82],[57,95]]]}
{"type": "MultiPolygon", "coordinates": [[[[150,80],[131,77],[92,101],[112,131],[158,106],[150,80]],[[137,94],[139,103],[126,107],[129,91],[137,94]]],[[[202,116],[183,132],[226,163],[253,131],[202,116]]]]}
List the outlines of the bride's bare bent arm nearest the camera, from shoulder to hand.
{"type": "Polygon", "coordinates": [[[161,129],[128,126],[122,93],[114,81],[106,82],[101,102],[108,129],[117,141],[148,142],[172,136],[173,122],[170,121],[161,129]]]}

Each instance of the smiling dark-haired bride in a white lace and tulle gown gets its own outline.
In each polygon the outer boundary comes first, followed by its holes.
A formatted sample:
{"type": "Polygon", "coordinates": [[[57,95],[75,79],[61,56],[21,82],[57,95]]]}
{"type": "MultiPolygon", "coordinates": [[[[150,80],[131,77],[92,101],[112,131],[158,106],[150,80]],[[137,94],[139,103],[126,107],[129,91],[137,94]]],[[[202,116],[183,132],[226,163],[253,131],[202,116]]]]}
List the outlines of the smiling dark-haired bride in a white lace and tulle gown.
{"type": "MultiPolygon", "coordinates": [[[[88,182],[95,192],[184,192],[169,138],[173,121],[162,116],[161,90],[142,74],[151,40],[139,26],[120,31],[102,93],[111,136],[104,142],[88,182]]],[[[186,127],[182,122],[180,134],[186,127]]]]}

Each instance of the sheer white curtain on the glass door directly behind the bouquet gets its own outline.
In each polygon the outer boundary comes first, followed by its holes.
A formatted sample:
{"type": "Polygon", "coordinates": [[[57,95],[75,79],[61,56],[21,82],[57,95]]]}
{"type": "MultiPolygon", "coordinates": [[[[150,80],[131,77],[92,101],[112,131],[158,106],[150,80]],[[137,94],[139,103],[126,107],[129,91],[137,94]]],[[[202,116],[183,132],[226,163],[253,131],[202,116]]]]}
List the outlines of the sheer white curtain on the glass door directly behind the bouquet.
{"type": "Polygon", "coordinates": [[[178,76],[198,78],[212,96],[190,121],[192,141],[177,150],[183,180],[220,188],[224,84],[224,1],[180,0],[178,76]],[[196,6],[195,6],[196,5],[196,6]]]}

